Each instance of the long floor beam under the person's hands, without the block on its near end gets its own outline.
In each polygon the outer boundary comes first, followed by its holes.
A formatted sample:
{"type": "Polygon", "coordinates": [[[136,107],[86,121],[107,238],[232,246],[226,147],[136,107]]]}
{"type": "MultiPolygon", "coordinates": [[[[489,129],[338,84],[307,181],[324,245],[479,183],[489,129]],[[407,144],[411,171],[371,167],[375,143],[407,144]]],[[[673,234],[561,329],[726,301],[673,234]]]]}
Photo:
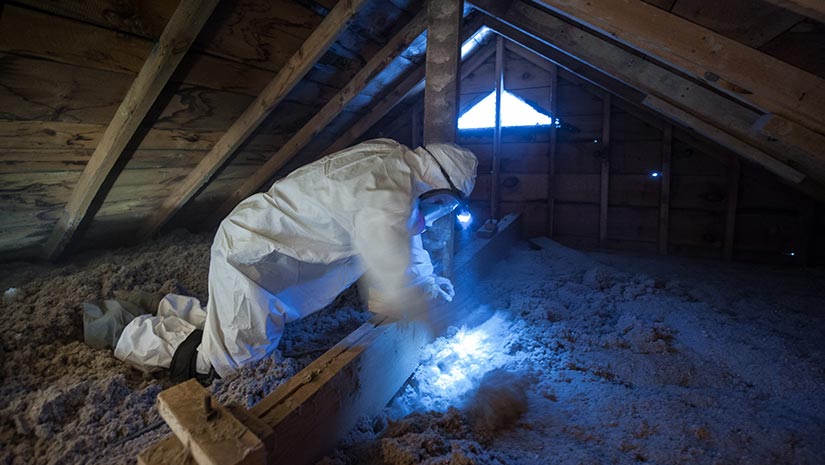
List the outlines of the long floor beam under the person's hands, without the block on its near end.
{"type": "MultiPolygon", "coordinates": [[[[508,215],[493,238],[464,244],[454,261],[461,271],[454,280],[457,296],[471,296],[478,279],[506,257],[518,236],[519,216],[508,215]]],[[[474,308],[477,302],[467,299],[448,307],[453,314],[474,308]]],[[[358,418],[378,412],[392,399],[432,337],[422,324],[402,325],[376,316],[279,386],[250,410],[273,431],[263,438],[266,463],[315,463],[358,418]]],[[[200,398],[188,402],[202,408],[200,398]]],[[[187,455],[177,438],[166,438],[141,452],[138,462],[176,464],[187,455]]]]}

